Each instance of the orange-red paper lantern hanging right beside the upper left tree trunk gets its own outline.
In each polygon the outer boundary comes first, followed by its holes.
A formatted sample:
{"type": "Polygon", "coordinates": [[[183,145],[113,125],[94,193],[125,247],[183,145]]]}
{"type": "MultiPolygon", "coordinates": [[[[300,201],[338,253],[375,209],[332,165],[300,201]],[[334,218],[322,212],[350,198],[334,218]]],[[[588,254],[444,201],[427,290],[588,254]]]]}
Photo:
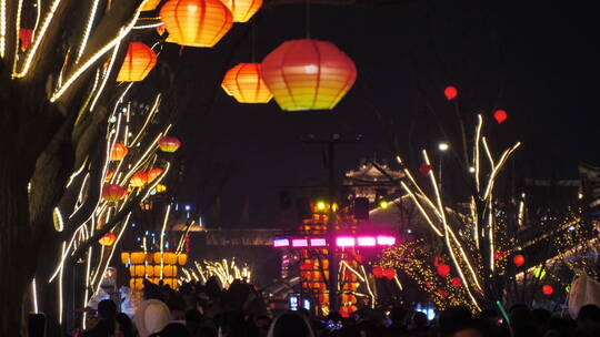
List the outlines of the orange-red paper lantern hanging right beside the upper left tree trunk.
{"type": "Polygon", "coordinates": [[[117,75],[117,82],[142,81],[156,64],[157,53],[150,47],[141,42],[131,42],[117,75]]]}

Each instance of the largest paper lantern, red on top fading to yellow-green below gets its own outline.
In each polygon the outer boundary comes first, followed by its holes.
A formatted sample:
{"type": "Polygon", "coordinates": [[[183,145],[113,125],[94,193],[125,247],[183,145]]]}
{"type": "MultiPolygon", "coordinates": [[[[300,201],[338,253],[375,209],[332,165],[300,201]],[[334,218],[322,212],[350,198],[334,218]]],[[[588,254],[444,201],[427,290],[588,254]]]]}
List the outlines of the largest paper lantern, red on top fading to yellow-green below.
{"type": "Polygon", "coordinates": [[[262,61],[262,80],[282,110],[331,110],[357,79],[354,62],[330,42],[291,40],[262,61]]]}

